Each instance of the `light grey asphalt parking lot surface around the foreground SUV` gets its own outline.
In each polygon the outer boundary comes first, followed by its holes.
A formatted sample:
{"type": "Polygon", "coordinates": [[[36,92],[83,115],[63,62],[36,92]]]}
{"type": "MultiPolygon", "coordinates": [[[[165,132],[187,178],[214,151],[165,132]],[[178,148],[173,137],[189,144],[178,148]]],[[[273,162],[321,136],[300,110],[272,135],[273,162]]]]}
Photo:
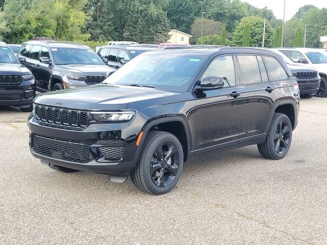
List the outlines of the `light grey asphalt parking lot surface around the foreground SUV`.
{"type": "Polygon", "coordinates": [[[192,159],[153,196],[41,165],[29,113],[0,107],[0,244],[327,244],[327,98],[300,110],[284,159],[255,145],[192,159]]]}

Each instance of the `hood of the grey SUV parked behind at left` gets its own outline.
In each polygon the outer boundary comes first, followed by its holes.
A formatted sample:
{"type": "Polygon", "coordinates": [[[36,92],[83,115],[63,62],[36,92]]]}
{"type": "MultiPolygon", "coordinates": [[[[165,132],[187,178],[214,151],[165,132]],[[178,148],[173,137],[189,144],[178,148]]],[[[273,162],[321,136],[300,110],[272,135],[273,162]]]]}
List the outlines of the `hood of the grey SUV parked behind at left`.
{"type": "Polygon", "coordinates": [[[86,73],[106,75],[108,71],[115,71],[107,65],[56,65],[58,70],[67,72],[67,74],[83,74],[86,73]]]}

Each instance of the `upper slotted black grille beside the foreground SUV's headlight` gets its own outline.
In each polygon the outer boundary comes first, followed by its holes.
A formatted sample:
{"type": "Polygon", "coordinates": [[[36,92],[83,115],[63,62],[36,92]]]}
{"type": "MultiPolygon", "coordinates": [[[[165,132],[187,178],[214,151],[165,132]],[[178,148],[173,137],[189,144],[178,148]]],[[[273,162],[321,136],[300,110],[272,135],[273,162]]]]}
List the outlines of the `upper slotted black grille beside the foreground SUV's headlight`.
{"type": "Polygon", "coordinates": [[[61,109],[52,106],[35,106],[36,120],[50,125],[85,128],[88,122],[86,111],[61,109]]]}

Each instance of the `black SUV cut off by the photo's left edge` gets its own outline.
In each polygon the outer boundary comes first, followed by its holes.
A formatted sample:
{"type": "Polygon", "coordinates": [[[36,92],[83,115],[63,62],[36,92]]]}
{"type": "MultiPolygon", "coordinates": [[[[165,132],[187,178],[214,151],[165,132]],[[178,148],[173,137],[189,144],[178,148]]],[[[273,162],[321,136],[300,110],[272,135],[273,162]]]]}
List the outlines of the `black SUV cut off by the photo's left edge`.
{"type": "MultiPolygon", "coordinates": [[[[20,62],[24,63],[25,59],[20,62]]],[[[0,106],[17,106],[21,111],[32,111],[34,95],[31,71],[19,63],[6,43],[0,42],[0,106]]]]}

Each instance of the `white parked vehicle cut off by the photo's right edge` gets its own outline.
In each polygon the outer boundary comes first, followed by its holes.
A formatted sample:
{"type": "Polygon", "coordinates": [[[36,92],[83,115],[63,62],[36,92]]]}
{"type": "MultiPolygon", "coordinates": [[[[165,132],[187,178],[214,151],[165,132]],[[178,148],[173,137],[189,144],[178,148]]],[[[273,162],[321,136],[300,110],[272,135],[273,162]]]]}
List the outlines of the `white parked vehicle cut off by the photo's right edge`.
{"type": "Polygon", "coordinates": [[[321,78],[316,96],[327,97],[327,53],[317,48],[277,48],[293,62],[316,68],[321,78]]]}

